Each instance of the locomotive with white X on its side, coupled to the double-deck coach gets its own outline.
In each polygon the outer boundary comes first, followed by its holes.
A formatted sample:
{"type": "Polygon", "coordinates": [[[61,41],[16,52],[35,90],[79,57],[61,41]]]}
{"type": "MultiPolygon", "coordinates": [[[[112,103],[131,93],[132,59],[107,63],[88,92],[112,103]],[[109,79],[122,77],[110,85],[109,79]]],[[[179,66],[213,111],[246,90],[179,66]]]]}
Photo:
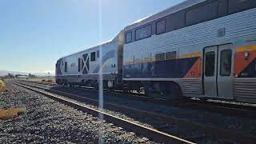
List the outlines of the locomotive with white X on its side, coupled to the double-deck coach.
{"type": "Polygon", "coordinates": [[[98,87],[99,74],[103,86],[114,88],[122,82],[123,31],[116,38],[76,54],[58,59],[56,82],[62,85],[98,87]]]}

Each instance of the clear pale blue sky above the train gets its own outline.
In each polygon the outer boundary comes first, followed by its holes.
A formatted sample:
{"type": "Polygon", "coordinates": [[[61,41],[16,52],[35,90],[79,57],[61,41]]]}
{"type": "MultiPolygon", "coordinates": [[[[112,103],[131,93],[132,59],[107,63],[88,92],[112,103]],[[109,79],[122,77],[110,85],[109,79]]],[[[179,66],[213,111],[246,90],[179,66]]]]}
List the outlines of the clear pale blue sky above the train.
{"type": "Polygon", "coordinates": [[[54,73],[58,58],[184,0],[0,0],[0,70],[54,73]]]}

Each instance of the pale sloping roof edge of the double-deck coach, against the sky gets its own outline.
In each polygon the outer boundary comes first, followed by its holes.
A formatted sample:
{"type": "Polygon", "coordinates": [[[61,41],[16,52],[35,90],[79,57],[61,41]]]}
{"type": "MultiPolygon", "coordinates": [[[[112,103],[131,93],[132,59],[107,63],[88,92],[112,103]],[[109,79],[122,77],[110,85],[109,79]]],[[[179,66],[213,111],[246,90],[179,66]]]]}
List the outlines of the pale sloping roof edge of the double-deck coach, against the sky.
{"type": "Polygon", "coordinates": [[[150,15],[146,18],[139,19],[138,21],[131,23],[130,25],[126,26],[125,30],[132,30],[138,26],[145,25],[148,22],[152,22],[157,20],[158,18],[165,17],[169,14],[174,14],[180,10],[184,10],[190,6],[197,5],[198,3],[205,2],[206,0],[186,0],[184,2],[179,3],[178,5],[172,6],[166,10],[159,12],[158,14],[150,15]]]}

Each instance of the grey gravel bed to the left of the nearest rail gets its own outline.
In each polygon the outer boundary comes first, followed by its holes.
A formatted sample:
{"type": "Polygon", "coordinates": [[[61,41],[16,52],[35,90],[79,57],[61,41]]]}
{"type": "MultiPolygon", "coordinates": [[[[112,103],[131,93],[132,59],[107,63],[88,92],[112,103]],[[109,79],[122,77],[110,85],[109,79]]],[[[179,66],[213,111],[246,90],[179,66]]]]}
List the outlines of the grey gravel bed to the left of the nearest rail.
{"type": "Polygon", "coordinates": [[[10,82],[6,89],[0,93],[0,109],[26,111],[0,120],[0,143],[154,143],[10,82]]]}

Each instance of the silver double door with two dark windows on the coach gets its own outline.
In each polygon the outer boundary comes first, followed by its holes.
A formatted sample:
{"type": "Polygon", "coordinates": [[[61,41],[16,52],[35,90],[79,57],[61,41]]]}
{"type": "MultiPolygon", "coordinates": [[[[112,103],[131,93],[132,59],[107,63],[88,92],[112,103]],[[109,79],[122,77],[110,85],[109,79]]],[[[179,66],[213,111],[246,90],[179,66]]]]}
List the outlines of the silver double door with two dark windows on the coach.
{"type": "Polygon", "coordinates": [[[234,46],[206,47],[204,51],[204,93],[215,98],[233,98],[234,46]]]}

